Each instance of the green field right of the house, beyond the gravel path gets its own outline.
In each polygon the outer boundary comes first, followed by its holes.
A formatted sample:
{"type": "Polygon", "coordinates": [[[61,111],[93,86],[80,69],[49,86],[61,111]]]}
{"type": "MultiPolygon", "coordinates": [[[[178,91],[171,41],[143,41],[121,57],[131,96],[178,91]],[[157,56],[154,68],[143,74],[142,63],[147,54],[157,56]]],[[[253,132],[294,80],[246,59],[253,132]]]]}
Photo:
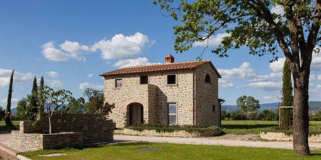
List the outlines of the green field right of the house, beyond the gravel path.
{"type": "MultiPolygon", "coordinates": [[[[285,132],[291,134],[291,130],[277,130],[277,121],[271,120],[222,120],[222,131],[234,134],[259,134],[260,131],[285,132]]],[[[310,134],[321,133],[321,121],[309,122],[310,134]]]]}

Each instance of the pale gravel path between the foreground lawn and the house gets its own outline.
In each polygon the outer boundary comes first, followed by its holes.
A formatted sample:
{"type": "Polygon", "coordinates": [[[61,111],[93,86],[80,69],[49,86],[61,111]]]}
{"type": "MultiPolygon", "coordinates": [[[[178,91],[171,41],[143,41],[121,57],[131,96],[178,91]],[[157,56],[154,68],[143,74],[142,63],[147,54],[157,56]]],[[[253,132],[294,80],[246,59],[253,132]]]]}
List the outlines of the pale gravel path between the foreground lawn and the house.
{"type": "MultiPolygon", "coordinates": [[[[228,135],[231,136],[231,135],[228,135]]],[[[164,137],[164,136],[134,136],[134,135],[114,135],[115,140],[136,140],[149,142],[169,142],[181,144],[207,144],[207,145],[227,145],[227,146],[251,146],[251,147],[268,147],[268,148],[285,148],[293,149],[292,141],[250,141],[237,139],[222,139],[217,137],[199,137],[199,138],[182,138],[182,137],[164,137]]],[[[309,142],[310,149],[321,150],[321,143],[309,142]]]]}

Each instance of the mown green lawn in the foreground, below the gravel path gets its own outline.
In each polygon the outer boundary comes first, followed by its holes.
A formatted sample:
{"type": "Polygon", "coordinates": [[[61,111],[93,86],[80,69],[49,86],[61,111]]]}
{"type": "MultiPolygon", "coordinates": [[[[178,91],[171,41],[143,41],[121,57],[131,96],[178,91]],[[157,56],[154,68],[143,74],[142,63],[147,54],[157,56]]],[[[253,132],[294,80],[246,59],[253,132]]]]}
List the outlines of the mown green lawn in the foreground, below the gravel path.
{"type": "Polygon", "coordinates": [[[293,150],[220,145],[130,142],[83,149],[65,148],[21,153],[31,159],[321,159],[321,151],[312,150],[307,157],[295,156],[293,150]],[[156,147],[161,150],[137,150],[156,147]],[[40,154],[66,153],[44,157],[40,154]]]}

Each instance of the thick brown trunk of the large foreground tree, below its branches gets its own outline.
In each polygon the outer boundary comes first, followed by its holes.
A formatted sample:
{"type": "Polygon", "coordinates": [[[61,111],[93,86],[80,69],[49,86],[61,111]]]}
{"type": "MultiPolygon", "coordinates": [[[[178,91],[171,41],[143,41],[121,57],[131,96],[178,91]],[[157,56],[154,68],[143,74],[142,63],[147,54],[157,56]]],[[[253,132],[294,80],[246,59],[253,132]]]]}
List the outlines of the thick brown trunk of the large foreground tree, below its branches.
{"type": "Polygon", "coordinates": [[[295,155],[299,156],[310,154],[308,146],[308,78],[309,71],[293,72],[293,148],[295,155]]]}

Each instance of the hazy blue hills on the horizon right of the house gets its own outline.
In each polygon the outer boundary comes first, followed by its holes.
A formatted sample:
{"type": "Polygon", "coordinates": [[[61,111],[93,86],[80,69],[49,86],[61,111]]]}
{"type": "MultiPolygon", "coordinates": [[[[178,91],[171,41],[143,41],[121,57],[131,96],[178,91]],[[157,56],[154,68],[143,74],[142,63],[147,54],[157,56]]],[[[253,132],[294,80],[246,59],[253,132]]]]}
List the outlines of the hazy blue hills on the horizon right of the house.
{"type": "MultiPolygon", "coordinates": [[[[264,104],[261,104],[259,111],[265,110],[265,109],[277,109],[278,105],[279,105],[279,102],[264,103],[264,104]]],[[[228,112],[240,110],[240,108],[238,108],[236,105],[222,105],[221,109],[226,110],[228,112]]],[[[309,101],[309,112],[316,112],[318,110],[321,110],[321,101],[309,101]]]]}

